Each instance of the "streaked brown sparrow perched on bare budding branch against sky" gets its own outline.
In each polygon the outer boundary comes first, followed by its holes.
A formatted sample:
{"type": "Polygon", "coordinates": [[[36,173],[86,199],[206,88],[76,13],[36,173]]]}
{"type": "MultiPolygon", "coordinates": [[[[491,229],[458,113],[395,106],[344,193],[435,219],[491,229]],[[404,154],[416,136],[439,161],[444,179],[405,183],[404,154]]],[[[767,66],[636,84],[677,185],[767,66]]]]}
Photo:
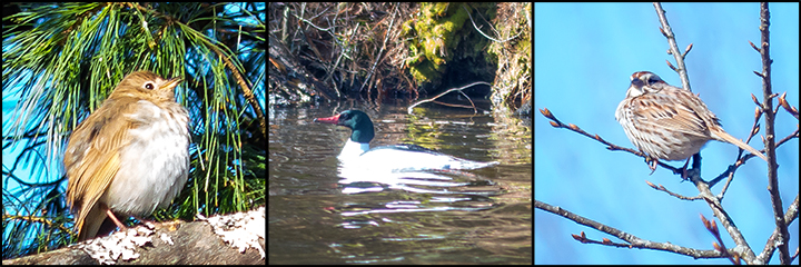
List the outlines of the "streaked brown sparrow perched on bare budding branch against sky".
{"type": "MultiPolygon", "coordinates": [[[[714,139],[768,160],[756,149],[726,134],[718,117],[691,91],[670,86],[649,71],[634,72],[631,80],[615,119],[623,126],[629,140],[650,157],[686,159],[714,139]]],[[[656,167],[655,162],[651,169],[656,167]]]]}

